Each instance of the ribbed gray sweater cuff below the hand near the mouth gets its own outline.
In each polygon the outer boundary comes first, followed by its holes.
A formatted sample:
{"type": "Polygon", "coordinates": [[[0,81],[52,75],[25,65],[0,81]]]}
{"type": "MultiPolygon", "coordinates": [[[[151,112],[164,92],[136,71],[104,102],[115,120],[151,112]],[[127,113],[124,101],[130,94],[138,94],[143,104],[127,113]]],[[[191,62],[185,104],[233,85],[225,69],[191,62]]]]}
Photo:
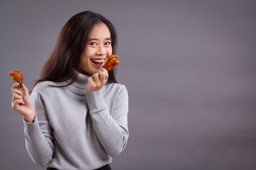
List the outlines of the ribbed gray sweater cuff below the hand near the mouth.
{"type": "Polygon", "coordinates": [[[87,103],[91,112],[102,111],[107,108],[102,91],[93,91],[86,93],[87,103]]]}

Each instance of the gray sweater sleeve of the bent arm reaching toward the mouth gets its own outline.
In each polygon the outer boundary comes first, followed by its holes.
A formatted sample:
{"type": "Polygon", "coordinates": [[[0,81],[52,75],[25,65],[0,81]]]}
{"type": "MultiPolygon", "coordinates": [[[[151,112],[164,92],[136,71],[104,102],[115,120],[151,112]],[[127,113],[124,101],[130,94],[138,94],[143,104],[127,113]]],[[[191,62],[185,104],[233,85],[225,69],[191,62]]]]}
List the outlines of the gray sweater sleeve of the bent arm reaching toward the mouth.
{"type": "Polygon", "coordinates": [[[127,145],[128,94],[121,86],[114,102],[113,113],[109,113],[101,91],[87,93],[87,102],[92,125],[102,146],[110,156],[117,156],[127,145]]]}

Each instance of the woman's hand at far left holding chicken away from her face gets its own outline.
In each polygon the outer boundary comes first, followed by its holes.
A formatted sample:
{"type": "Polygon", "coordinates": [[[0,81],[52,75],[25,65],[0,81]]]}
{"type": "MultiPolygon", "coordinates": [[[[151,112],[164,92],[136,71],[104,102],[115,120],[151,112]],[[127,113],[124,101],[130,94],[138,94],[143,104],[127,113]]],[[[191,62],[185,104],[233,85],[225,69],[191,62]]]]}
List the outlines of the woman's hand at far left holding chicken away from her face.
{"type": "Polygon", "coordinates": [[[14,86],[11,88],[13,94],[11,108],[23,115],[23,118],[26,120],[26,122],[33,123],[36,117],[36,112],[33,106],[33,102],[31,101],[31,98],[28,94],[28,89],[23,84],[22,93],[22,91],[17,89],[17,87],[18,84],[14,84],[14,86]]]}

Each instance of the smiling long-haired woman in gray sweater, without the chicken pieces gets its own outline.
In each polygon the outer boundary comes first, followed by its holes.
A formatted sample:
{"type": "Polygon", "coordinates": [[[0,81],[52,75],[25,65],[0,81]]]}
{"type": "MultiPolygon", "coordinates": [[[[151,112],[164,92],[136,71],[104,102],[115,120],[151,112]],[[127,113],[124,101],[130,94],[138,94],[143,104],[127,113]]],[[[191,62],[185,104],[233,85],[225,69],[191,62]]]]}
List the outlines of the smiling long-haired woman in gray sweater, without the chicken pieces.
{"type": "Polygon", "coordinates": [[[128,94],[114,70],[112,23],[91,11],[65,23],[31,96],[12,88],[12,108],[23,115],[26,149],[48,169],[111,169],[127,144],[128,94]]]}

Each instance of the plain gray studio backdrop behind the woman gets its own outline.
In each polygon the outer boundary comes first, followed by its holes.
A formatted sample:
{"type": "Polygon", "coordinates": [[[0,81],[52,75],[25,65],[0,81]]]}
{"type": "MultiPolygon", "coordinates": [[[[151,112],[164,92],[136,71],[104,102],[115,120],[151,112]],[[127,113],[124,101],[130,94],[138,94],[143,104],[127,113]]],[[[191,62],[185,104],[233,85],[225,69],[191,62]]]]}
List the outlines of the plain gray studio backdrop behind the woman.
{"type": "Polygon", "coordinates": [[[46,169],[25,148],[9,72],[29,89],[80,11],[114,23],[129,142],[112,169],[256,169],[256,1],[0,1],[0,169],[46,169]]]}

